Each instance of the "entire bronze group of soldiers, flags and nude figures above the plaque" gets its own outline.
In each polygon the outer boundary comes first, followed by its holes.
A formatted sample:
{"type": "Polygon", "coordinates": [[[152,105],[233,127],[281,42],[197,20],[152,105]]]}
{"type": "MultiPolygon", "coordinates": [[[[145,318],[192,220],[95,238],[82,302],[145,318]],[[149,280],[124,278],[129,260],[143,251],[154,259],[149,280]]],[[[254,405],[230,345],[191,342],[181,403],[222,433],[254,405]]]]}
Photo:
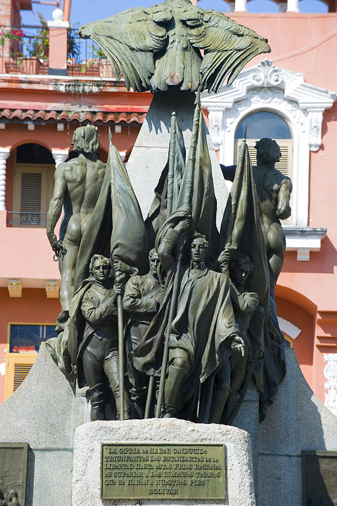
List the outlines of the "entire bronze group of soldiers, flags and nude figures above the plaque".
{"type": "Polygon", "coordinates": [[[276,142],[257,142],[252,167],[244,139],[237,165],[221,166],[232,187],[220,232],[199,103],[187,160],[172,114],[145,222],[115,146],[107,165],[97,160],[92,125],[73,144],[78,156],[57,167],[48,213],[62,312],[47,348],[73,386],[88,387],[91,420],[230,425],[252,379],[262,421],[285,374],[274,292],[292,184],[275,169],[276,142]]]}

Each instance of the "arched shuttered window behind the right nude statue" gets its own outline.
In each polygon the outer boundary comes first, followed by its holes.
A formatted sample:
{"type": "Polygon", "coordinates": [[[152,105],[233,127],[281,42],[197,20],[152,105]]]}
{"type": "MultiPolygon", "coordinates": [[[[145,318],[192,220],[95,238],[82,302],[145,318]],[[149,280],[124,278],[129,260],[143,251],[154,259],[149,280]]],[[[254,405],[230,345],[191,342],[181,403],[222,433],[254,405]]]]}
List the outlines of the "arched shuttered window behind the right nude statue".
{"type": "MultiPolygon", "coordinates": [[[[247,145],[251,156],[252,164],[256,165],[255,143],[264,137],[273,139],[277,142],[281,150],[281,159],[275,163],[277,168],[284,176],[293,179],[293,139],[288,123],[270,111],[258,111],[246,116],[237,125],[234,142],[234,160],[237,161],[238,150],[244,136],[247,125],[247,145]]],[[[292,205],[292,199],[291,199],[292,205]]],[[[291,225],[292,217],[282,220],[283,225],[291,225]]]]}

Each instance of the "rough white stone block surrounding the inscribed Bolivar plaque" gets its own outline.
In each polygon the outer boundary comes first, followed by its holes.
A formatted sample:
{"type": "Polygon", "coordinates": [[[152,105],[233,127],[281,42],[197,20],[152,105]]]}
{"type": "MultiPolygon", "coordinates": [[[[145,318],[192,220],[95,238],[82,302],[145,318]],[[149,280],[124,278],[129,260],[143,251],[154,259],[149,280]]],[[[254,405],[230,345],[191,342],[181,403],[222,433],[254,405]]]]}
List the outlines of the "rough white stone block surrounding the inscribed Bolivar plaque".
{"type": "Polygon", "coordinates": [[[188,500],[102,500],[100,497],[101,443],[221,443],[225,445],[225,501],[193,500],[200,506],[255,506],[250,435],[236,427],[194,424],[176,418],[95,421],[78,427],[74,435],[72,506],[174,504],[188,500]]]}

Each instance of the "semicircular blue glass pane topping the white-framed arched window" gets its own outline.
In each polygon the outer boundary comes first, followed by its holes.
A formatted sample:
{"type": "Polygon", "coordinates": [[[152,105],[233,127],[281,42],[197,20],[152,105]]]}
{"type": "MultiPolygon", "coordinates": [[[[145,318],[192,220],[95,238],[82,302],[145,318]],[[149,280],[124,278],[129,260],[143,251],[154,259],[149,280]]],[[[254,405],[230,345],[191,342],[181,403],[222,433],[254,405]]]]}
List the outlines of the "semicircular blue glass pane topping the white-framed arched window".
{"type": "Polygon", "coordinates": [[[247,139],[292,139],[287,123],[277,114],[259,111],[245,118],[237,127],[235,139],[242,139],[247,124],[247,139]]]}

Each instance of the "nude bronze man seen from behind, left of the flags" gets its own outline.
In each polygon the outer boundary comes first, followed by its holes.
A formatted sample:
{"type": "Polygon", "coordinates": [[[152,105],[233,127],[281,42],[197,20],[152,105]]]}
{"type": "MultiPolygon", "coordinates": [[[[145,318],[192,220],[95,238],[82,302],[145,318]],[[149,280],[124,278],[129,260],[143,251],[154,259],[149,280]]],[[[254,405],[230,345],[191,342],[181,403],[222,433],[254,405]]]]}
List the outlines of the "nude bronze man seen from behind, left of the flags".
{"type": "Polygon", "coordinates": [[[54,194],[47,214],[46,233],[59,260],[60,302],[68,311],[74,293],[77,254],[80,243],[98,201],[106,165],[97,159],[99,134],[94,125],[80,126],[73,134],[74,151],[79,155],[61,163],[55,171],[54,194]],[[60,239],[55,227],[64,209],[60,239]]]}

